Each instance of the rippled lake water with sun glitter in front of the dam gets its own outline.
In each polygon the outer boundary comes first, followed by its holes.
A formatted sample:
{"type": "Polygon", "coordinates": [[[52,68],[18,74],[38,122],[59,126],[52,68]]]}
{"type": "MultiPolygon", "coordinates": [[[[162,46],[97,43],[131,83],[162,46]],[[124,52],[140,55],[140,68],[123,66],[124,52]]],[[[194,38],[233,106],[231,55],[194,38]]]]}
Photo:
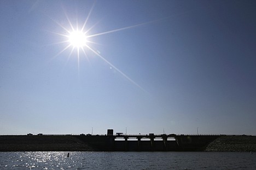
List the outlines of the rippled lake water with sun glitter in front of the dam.
{"type": "Polygon", "coordinates": [[[256,169],[256,153],[0,152],[0,169],[256,169]]]}

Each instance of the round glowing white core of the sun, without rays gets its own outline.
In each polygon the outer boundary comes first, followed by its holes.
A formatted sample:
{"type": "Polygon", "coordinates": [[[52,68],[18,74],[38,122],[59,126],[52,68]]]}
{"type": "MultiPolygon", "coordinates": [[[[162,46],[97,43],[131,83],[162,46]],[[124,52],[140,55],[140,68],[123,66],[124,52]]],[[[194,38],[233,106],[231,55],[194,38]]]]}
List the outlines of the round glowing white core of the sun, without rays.
{"type": "Polygon", "coordinates": [[[83,48],[88,42],[87,37],[84,32],[82,31],[72,31],[68,35],[68,42],[74,48],[83,48]]]}

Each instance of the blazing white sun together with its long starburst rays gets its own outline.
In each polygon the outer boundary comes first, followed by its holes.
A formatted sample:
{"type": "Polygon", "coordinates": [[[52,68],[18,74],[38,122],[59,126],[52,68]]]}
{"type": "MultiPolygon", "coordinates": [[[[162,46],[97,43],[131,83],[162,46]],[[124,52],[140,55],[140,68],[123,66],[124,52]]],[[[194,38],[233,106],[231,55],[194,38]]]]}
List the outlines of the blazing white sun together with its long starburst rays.
{"type": "Polygon", "coordinates": [[[95,34],[89,34],[89,31],[92,30],[98,24],[98,22],[96,22],[95,25],[89,27],[88,29],[85,29],[87,27],[87,23],[88,23],[88,20],[90,19],[92,9],[94,8],[94,5],[92,5],[92,8],[90,9],[89,14],[86,17],[82,27],[79,27],[78,21],[76,22],[76,25],[72,24],[71,20],[69,20],[69,17],[66,13],[65,13],[65,16],[66,16],[66,19],[67,19],[68,24],[69,24],[68,27],[63,26],[62,24],[60,24],[57,21],[54,21],[57,25],[59,25],[65,31],[65,33],[64,34],[63,33],[56,33],[56,32],[53,32],[53,33],[55,33],[55,34],[57,34],[57,35],[66,39],[66,40],[63,40],[61,42],[55,43],[55,44],[66,44],[66,46],[59,53],[57,53],[55,55],[55,57],[59,56],[64,51],[67,51],[68,49],[70,50],[69,55],[68,55],[68,60],[71,58],[71,56],[74,56],[75,53],[77,53],[75,56],[77,56],[78,70],[79,70],[80,57],[84,56],[84,57],[87,58],[87,60],[89,60],[88,52],[91,51],[93,54],[100,57],[104,62],[106,62],[110,66],[111,69],[112,68],[115,69],[115,71],[117,71],[123,77],[125,77],[127,80],[129,80],[130,83],[132,83],[133,85],[136,85],[137,87],[139,87],[139,89],[147,92],[140,85],[138,85],[134,80],[132,80],[125,73],[123,73],[120,69],[115,67],[106,58],[104,58],[98,52],[98,50],[94,49],[92,44],[97,44],[97,43],[94,42],[93,40],[91,40],[91,38],[96,37],[96,36],[101,36],[103,34],[113,33],[113,32],[117,32],[117,31],[126,30],[126,29],[129,29],[129,28],[145,25],[145,24],[148,24],[149,22],[145,22],[145,23],[137,24],[137,25],[133,25],[133,26],[127,26],[127,27],[123,27],[123,28],[118,28],[118,29],[115,29],[115,30],[110,30],[110,31],[105,31],[105,32],[100,32],[100,33],[95,33],[95,34]]]}

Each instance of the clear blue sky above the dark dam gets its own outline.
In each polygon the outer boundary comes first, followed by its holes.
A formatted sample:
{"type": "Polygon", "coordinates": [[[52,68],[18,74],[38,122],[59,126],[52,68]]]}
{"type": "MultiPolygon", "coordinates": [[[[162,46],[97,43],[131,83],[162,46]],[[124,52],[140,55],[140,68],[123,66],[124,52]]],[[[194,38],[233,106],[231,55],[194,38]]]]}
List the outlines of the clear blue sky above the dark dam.
{"type": "Polygon", "coordinates": [[[2,0],[0,134],[256,135],[255,9],[2,0]]]}

